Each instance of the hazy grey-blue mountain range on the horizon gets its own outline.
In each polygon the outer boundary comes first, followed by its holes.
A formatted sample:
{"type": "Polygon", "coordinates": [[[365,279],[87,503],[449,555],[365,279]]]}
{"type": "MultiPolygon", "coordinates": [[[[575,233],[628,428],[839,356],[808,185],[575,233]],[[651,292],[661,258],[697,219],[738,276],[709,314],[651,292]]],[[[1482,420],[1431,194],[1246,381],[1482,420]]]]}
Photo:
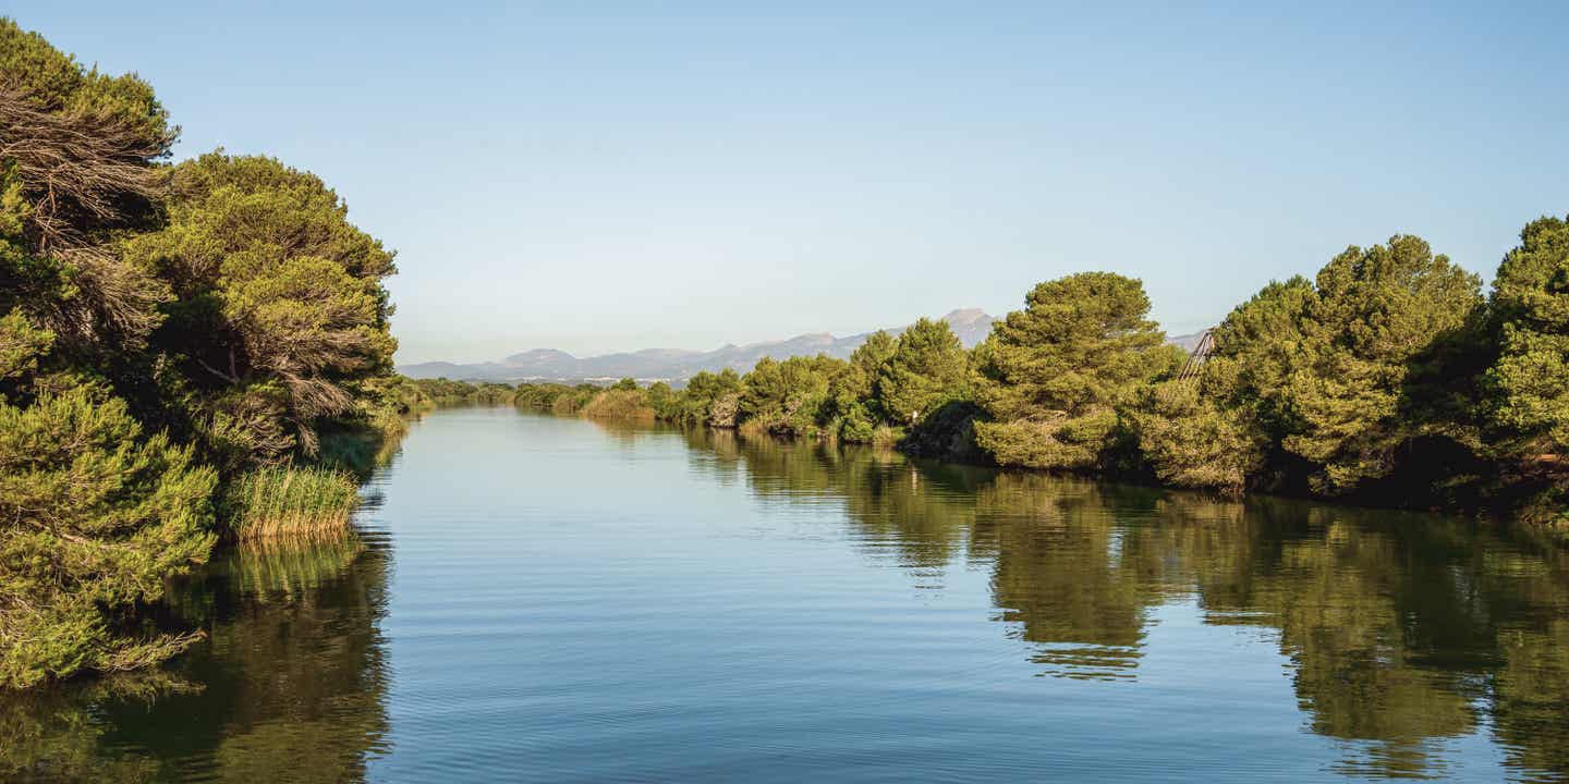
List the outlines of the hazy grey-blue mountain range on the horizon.
{"type": "MultiPolygon", "coordinates": [[[[992,332],[993,318],[981,309],[970,307],[949,312],[943,317],[943,321],[948,321],[948,326],[954,329],[954,334],[959,336],[959,342],[965,348],[973,348],[992,332]]],[[[904,326],[886,329],[893,336],[904,331],[904,326]]],[[[712,351],[643,348],[640,351],[584,358],[555,348],[533,348],[511,354],[499,362],[419,362],[399,365],[397,370],[410,378],[450,378],[457,381],[604,381],[629,376],[639,381],[681,383],[703,370],[717,373],[728,367],[737,373],[745,373],[764,356],[786,359],[791,356],[828,354],[847,359],[869,336],[871,332],[849,337],[813,332],[763,343],[726,343],[712,351]]],[[[1192,350],[1199,342],[1199,334],[1175,336],[1169,342],[1192,350]]]]}

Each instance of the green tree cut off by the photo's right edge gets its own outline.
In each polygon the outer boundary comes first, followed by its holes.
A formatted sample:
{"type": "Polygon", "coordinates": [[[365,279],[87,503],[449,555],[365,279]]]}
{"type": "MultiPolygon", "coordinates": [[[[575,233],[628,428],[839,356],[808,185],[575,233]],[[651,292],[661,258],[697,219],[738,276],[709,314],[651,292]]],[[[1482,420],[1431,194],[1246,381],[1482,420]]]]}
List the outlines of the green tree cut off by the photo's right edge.
{"type": "Polygon", "coordinates": [[[1487,414],[1513,458],[1569,452],[1569,220],[1520,230],[1494,279],[1487,414]]]}

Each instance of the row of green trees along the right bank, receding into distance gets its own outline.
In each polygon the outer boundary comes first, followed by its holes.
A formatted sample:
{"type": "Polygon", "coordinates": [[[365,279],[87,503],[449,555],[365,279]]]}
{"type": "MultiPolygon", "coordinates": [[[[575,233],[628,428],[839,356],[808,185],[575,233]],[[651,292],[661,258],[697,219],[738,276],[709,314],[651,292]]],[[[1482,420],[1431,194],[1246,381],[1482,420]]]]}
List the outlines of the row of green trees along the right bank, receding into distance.
{"type": "Polygon", "coordinates": [[[524,384],[516,401],[1230,495],[1569,522],[1569,220],[1530,223],[1487,295],[1417,237],[1348,248],[1315,279],[1236,306],[1186,373],[1149,310],[1139,281],[1079,273],[1037,285],[971,351],[921,320],[847,361],[764,358],[679,390],[524,384]]]}

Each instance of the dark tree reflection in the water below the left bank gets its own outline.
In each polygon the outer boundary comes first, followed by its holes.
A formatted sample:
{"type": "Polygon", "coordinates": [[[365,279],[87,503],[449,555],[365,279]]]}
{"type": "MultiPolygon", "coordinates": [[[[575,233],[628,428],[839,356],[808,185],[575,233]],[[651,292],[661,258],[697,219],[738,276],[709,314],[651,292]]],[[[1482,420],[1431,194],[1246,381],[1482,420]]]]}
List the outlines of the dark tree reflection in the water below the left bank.
{"type": "Polygon", "coordinates": [[[0,698],[0,779],[361,779],[388,732],[388,569],[358,535],[226,554],[171,607],[209,640],[168,671],[0,698]]]}

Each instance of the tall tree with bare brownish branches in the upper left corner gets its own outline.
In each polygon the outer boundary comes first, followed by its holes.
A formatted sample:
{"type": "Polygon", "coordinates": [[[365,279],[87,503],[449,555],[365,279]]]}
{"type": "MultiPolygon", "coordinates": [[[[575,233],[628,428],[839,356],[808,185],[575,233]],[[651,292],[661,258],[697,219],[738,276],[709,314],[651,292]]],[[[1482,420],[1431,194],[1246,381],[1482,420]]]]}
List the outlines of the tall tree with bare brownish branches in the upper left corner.
{"type": "Polygon", "coordinates": [[[177,129],[135,75],[85,69],[0,17],[0,314],[102,365],[137,347],[168,296],[113,240],[157,216],[177,129]]]}

